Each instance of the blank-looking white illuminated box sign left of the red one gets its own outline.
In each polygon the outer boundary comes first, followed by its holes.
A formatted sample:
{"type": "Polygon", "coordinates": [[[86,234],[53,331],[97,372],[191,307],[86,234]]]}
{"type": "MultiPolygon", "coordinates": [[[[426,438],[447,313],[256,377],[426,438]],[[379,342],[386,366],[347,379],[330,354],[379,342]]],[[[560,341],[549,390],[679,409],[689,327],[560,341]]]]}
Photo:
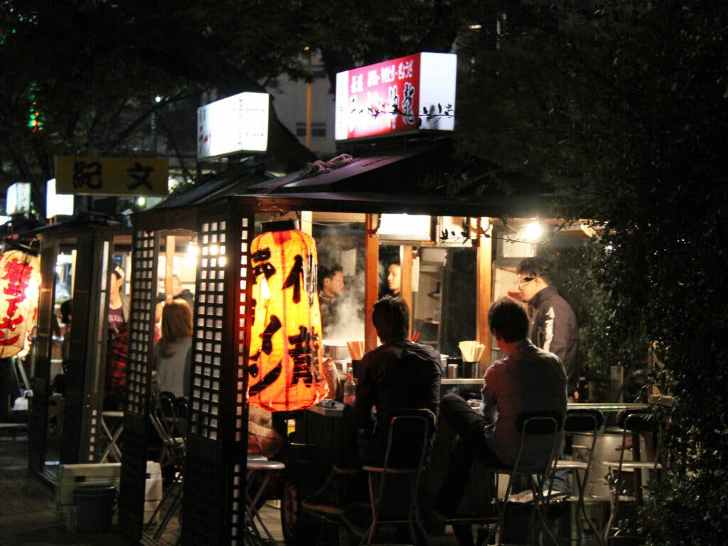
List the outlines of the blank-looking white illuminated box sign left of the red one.
{"type": "Polygon", "coordinates": [[[238,93],[197,108],[197,160],[268,149],[267,93],[238,93]]]}

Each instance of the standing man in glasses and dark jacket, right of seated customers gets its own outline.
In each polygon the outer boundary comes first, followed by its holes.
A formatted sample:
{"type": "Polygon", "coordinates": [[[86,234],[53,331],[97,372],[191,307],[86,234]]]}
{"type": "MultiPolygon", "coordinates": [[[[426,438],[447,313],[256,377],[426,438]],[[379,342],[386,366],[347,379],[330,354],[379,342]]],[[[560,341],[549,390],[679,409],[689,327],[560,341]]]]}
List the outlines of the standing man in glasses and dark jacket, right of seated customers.
{"type": "Polygon", "coordinates": [[[534,309],[529,339],[539,349],[561,359],[568,378],[569,396],[579,380],[579,327],[574,310],[546,277],[542,261],[526,258],[518,265],[521,299],[534,309]]]}

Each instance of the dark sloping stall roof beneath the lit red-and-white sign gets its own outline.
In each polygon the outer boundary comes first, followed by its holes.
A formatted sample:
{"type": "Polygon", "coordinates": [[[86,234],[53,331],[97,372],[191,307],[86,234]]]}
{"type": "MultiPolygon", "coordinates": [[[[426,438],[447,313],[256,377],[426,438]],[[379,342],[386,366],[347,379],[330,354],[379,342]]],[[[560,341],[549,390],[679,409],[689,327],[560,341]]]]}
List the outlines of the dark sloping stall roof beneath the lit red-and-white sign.
{"type": "Polygon", "coordinates": [[[534,178],[503,172],[482,159],[457,157],[449,140],[371,152],[326,172],[313,174],[314,170],[262,181],[252,180],[250,173],[216,178],[138,213],[135,223],[187,226],[196,217],[192,205],[229,198],[256,199],[259,210],[528,217],[546,215],[555,197],[534,178]],[[464,175],[478,181],[469,194],[449,194],[448,182],[464,175]],[[155,212],[164,213],[165,221],[155,218],[155,212]]]}

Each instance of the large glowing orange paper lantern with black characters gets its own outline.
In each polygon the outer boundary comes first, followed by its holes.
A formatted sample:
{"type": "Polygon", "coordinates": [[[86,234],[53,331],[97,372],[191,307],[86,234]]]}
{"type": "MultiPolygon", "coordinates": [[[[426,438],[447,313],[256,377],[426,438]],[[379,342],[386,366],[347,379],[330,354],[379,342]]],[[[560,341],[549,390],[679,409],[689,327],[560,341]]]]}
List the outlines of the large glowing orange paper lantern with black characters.
{"type": "Polygon", "coordinates": [[[250,245],[255,306],[248,401],[268,411],[310,408],[325,397],[316,243],[296,230],[266,232],[250,245]]]}

